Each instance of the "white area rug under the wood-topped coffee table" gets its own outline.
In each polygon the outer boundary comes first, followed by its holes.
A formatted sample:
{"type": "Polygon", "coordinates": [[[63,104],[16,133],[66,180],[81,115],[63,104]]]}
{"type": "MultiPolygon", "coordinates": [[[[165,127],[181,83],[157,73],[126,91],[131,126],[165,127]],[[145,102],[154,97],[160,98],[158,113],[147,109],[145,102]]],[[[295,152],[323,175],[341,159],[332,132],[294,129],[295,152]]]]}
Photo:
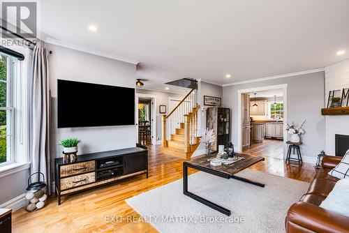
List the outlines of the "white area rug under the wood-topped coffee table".
{"type": "Polygon", "coordinates": [[[126,202],[159,232],[285,232],[288,208],[309,183],[253,170],[237,175],[265,183],[265,188],[204,172],[188,178],[189,192],[230,209],[230,217],[183,195],[182,179],[126,202]]]}

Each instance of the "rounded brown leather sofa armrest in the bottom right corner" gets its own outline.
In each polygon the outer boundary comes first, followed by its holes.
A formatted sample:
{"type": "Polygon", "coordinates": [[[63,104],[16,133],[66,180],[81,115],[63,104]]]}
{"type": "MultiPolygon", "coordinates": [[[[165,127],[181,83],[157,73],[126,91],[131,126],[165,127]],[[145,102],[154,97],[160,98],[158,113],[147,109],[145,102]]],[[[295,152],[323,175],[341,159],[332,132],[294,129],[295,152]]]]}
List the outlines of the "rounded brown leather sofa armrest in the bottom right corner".
{"type": "Polygon", "coordinates": [[[288,227],[292,224],[298,225],[304,232],[349,232],[349,217],[307,202],[292,204],[285,224],[287,232],[290,232],[288,227]]]}

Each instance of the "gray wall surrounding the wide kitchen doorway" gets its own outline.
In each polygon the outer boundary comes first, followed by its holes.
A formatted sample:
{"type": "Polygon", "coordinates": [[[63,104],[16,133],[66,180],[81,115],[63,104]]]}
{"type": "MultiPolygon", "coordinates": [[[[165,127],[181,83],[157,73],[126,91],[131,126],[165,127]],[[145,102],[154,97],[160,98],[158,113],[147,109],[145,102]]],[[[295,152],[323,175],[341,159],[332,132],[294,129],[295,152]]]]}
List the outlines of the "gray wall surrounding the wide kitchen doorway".
{"type": "Polygon", "coordinates": [[[288,121],[302,123],[307,120],[301,151],[303,156],[315,158],[325,149],[325,118],[320,112],[325,98],[324,72],[223,87],[223,105],[232,111],[232,143],[237,144],[237,90],[276,84],[288,84],[288,121]]]}

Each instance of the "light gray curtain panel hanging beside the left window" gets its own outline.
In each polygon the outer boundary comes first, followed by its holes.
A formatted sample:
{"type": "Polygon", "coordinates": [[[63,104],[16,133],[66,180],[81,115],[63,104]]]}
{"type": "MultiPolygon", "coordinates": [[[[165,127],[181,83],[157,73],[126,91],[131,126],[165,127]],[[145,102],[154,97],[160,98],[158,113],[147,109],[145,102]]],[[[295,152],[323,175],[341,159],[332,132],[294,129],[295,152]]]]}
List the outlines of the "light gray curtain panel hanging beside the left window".
{"type": "MultiPolygon", "coordinates": [[[[42,172],[51,194],[49,54],[40,43],[31,54],[31,173],[42,172]]],[[[37,178],[38,176],[36,176],[37,178]]],[[[34,178],[35,179],[35,178],[34,178]]],[[[41,178],[42,179],[42,178],[41,178]]]]}

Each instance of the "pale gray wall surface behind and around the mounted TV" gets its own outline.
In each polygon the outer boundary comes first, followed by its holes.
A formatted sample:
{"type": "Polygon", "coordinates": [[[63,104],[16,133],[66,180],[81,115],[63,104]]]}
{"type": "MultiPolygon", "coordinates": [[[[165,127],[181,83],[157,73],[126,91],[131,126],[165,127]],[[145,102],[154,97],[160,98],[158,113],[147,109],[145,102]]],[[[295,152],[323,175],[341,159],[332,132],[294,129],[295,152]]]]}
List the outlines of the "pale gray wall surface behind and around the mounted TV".
{"type": "MultiPolygon", "coordinates": [[[[56,45],[47,47],[52,50],[50,57],[52,158],[61,157],[61,146],[58,146],[57,142],[66,137],[77,137],[82,140],[79,154],[134,147],[137,135],[135,126],[57,128],[57,79],[135,88],[135,65],[56,45]]],[[[117,101],[120,100],[109,101],[110,107],[118,110],[117,101]]],[[[98,106],[91,106],[91,111],[98,114],[98,106]]],[[[122,114],[122,110],[119,111],[122,114]]]]}

